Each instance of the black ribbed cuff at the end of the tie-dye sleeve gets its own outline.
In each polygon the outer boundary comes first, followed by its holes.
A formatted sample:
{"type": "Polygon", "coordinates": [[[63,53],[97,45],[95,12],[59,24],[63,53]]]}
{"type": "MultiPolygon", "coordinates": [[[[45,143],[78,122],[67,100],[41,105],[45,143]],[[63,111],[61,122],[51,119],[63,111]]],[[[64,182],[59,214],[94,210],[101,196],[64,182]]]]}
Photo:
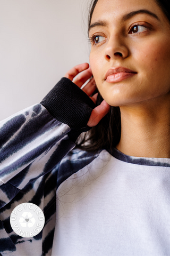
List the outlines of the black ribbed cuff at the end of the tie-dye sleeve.
{"type": "Polygon", "coordinates": [[[40,103],[74,133],[89,130],[87,123],[95,103],[70,79],[63,77],[40,103]]]}

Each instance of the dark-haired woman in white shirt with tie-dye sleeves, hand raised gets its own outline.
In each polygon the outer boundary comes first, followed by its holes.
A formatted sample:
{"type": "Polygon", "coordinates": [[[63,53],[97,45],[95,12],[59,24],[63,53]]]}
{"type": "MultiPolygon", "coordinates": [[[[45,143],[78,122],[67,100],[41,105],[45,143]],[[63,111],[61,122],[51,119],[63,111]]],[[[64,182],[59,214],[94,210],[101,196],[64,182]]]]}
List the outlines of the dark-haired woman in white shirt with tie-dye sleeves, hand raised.
{"type": "Polygon", "coordinates": [[[168,8],[167,1],[93,1],[91,69],[71,69],[39,105],[4,121],[2,255],[169,255],[168,8]],[[73,149],[92,126],[90,144],[73,149]],[[31,238],[9,221],[24,202],[46,219],[31,238]]]}

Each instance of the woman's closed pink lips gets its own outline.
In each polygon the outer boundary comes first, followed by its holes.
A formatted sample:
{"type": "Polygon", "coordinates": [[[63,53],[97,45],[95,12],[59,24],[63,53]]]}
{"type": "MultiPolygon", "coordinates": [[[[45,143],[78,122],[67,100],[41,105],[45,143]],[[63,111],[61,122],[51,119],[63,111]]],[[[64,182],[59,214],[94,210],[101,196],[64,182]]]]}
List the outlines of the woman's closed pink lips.
{"type": "Polygon", "coordinates": [[[110,68],[105,75],[105,81],[108,83],[116,83],[135,74],[137,74],[137,72],[124,67],[110,68]]]}

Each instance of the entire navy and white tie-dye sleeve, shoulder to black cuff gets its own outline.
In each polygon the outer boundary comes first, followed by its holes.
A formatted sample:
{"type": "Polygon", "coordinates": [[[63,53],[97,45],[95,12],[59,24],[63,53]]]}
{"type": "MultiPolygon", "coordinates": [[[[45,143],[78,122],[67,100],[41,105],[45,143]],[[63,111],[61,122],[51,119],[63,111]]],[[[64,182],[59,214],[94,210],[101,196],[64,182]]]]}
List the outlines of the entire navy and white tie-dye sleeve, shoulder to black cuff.
{"type": "MultiPolygon", "coordinates": [[[[50,255],[56,221],[56,189],[74,172],[74,167],[66,168],[63,173],[56,166],[75,147],[79,134],[89,130],[87,122],[94,107],[86,93],[62,78],[40,104],[1,122],[2,255],[50,255]],[[10,225],[12,210],[25,202],[38,205],[45,215],[43,230],[31,238],[15,234],[10,225]]],[[[75,171],[90,161],[91,156],[83,153],[78,157],[75,171]]]]}

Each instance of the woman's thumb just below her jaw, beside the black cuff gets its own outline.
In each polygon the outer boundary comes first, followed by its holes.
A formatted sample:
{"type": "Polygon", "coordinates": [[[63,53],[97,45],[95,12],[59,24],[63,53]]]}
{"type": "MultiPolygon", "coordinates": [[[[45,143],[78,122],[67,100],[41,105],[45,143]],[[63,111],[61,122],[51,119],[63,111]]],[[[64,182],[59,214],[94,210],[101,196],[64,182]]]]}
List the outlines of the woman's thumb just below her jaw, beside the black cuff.
{"type": "Polygon", "coordinates": [[[108,103],[103,100],[99,106],[92,110],[87,125],[89,127],[96,126],[100,122],[100,120],[108,113],[110,108],[111,106],[109,106],[108,103]]]}

